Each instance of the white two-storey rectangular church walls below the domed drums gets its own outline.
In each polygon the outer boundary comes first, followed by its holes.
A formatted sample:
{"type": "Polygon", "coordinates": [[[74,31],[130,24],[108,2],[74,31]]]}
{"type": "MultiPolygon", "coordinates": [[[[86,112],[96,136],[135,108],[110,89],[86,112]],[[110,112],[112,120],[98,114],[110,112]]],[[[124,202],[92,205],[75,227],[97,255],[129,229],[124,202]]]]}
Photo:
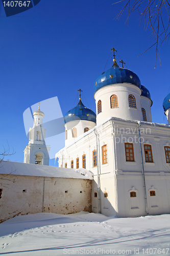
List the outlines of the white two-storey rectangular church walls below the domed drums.
{"type": "Polygon", "coordinates": [[[60,150],[56,157],[59,158],[59,166],[67,163],[67,167],[70,167],[73,160],[76,168],[76,160],[79,158],[79,167],[82,167],[82,156],[86,156],[86,169],[94,174],[93,212],[119,217],[169,213],[170,163],[166,162],[164,148],[170,144],[169,135],[168,125],[110,118],[60,150]],[[134,161],[126,161],[125,143],[129,142],[133,143],[134,161]],[[107,145],[106,163],[103,163],[104,145],[107,145]],[[144,145],[151,145],[153,162],[146,162],[144,145]],[[97,166],[93,166],[94,150],[97,166]],[[155,191],[155,196],[151,196],[150,191],[155,191]],[[136,197],[131,197],[131,192],[135,192],[136,197]],[[147,200],[144,199],[144,193],[147,200]]]}

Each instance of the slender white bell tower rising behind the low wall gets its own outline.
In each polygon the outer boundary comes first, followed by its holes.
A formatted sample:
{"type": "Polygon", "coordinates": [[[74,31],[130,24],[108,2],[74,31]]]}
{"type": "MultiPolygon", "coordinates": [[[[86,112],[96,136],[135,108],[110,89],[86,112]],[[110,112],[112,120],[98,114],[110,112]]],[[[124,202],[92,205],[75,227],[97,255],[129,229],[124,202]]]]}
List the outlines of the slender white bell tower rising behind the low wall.
{"type": "Polygon", "coordinates": [[[34,125],[29,130],[29,144],[24,150],[24,163],[49,165],[50,146],[45,144],[46,130],[42,126],[44,113],[38,110],[33,113],[34,125]]]}

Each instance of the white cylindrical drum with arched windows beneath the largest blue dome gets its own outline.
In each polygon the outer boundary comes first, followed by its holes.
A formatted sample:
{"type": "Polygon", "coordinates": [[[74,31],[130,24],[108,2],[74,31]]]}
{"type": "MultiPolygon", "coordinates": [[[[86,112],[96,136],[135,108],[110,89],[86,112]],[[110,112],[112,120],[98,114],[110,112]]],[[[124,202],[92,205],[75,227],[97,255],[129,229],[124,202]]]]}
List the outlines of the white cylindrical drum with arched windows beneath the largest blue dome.
{"type": "Polygon", "coordinates": [[[143,120],[140,103],[141,91],[137,86],[128,83],[119,83],[106,86],[96,91],[94,99],[96,103],[96,124],[102,123],[109,117],[118,117],[128,120],[143,120]],[[118,108],[111,109],[110,97],[117,96],[118,108]],[[136,100],[136,109],[129,108],[129,95],[136,100]],[[102,112],[98,114],[98,101],[102,101],[102,112]]]}

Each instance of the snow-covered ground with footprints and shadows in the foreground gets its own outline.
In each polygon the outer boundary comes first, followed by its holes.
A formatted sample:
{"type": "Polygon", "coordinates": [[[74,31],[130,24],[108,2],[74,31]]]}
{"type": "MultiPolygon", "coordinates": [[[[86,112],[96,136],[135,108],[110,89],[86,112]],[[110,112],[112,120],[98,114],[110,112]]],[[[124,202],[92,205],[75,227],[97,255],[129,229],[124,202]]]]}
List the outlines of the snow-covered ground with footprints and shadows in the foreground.
{"type": "Polygon", "coordinates": [[[29,214],[0,224],[0,255],[170,255],[170,215],[29,214]]]}

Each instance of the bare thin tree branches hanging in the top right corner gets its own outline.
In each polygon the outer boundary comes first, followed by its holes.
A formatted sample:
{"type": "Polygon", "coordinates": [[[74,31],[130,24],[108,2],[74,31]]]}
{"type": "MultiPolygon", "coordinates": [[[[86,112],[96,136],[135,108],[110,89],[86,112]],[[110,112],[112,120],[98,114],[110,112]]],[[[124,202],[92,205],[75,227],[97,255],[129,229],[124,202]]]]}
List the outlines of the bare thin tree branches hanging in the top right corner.
{"type": "MultiPolygon", "coordinates": [[[[155,43],[150,46],[147,50],[151,49],[153,46],[156,48],[156,61],[157,56],[159,56],[159,61],[161,65],[160,55],[159,55],[159,44],[166,42],[169,39],[169,24],[170,24],[170,15],[169,8],[170,4],[168,0],[122,0],[114,4],[119,4],[126,1],[124,7],[120,12],[115,16],[114,19],[120,19],[124,11],[128,8],[128,16],[126,22],[129,21],[132,12],[137,11],[139,14],[139,24],[144,21],[144,28],[151,29],[151,36],[153,36],[155,43]]],[[[144,53],[143,52],[143,53],[144,53]]],[[[141,54],[140,54],[141,55],[141,54]]],[[[139,56],[140,56],[139,55],[139,56]]],[[[156,67],[155,61],[155,67],[156,67]]]]}

